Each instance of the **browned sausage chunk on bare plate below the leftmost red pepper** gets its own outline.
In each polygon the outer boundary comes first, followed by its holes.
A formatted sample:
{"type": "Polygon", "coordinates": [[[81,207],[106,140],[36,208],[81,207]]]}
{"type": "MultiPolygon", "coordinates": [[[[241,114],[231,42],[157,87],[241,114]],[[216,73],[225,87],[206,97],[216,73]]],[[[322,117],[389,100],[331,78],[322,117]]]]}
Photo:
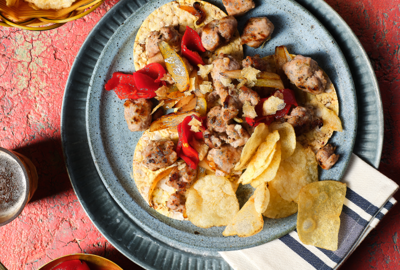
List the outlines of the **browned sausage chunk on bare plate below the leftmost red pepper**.
{"type": "Polygon", "coordinates": [[[144,98],[126,99],[123,114],[130,131],[144,131],[151,122],[151,101],[144,98]]]}

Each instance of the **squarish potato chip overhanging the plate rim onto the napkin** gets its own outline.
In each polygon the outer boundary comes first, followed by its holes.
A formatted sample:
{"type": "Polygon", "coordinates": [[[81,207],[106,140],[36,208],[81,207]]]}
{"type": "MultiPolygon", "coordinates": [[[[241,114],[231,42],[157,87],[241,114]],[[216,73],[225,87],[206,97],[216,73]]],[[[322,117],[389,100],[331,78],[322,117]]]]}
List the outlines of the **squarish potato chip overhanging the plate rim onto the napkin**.
{"type": "Polygon", "coordinates": [[[336,250],[346,184],[318,181],[298,194],[297,233],[304,244],[336,250]]]}

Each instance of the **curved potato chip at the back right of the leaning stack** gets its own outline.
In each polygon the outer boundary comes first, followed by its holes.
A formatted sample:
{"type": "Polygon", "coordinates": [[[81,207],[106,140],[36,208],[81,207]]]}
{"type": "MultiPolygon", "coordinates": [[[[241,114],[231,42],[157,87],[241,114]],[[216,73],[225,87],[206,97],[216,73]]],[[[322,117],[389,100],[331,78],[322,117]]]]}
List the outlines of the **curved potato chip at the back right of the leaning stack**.
{"type": "Polygon", "coordinates": [[[294,128],[288,122],[278,123],[273,122],[269,126],[269,131],[278,130],[281,156],[280,159],[284,160],[293,154],[296,148],[296,134],[294,133],[294,128]]]}

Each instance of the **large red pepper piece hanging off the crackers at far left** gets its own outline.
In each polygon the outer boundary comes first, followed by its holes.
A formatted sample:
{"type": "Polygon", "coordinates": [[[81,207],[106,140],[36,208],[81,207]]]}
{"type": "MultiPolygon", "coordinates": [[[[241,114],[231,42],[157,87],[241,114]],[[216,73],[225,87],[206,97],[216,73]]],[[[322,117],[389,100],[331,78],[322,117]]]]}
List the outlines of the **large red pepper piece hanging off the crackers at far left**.
{"type": "Polygon", "coordinates": [[[104,88],[114,90],[119,99],[151,98],[155,91],[165,82],[160,78],[165,74],[165,69],[159,63],[147,64],[133,74],[114,72],[104,85],[104,88]]]}

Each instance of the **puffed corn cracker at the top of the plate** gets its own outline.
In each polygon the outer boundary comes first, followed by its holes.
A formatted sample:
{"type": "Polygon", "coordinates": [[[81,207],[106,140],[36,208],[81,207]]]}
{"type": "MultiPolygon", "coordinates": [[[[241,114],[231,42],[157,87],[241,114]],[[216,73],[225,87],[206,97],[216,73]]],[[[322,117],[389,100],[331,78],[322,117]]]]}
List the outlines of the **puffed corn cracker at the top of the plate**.
{"type": "MultiPolygon", "coordinates": [[[[177,27],[178,32],[183,34],[186,25],[195,29],[207,24],[211,20],[221,19],[225,16],[226,14],[221,9],[201,0],[177,0],[161,5],[147,16],[136,33],[133,45],[134,68],[138,70],[147,64],[145,45],[149,32],[159,30],[164,26],[172,26],[177,27]],[[194,2],[200,2],[201,8],[205,11],[205,19],[200,25],[195,24],[197,21],[196,16],[179,8],[179,5],[193,6],[194,2]]],[[[235,58],[241,55],[241,58],[237,58],[241,61],[243,59],[243,47],[239,33],[236,31],[233,40],[217,48],[216,51],[231,54],[235,58]]]]}

